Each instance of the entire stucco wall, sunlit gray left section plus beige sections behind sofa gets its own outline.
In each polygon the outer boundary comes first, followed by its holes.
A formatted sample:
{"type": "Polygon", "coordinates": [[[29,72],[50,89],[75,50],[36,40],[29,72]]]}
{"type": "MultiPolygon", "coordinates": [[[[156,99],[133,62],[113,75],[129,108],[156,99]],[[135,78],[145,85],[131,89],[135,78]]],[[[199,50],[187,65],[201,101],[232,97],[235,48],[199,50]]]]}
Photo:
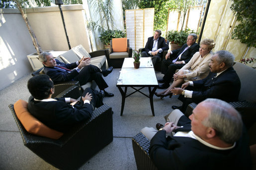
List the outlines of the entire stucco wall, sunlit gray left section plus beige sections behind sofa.
{"type": "MultiPolygon", "coordinates": [[[[91,52],[84,6],[62,5],[71,48],[82,44],[91,52]]],[[[58,6],[26,9],[28,21],[43,51],[68,51],[58,6]]],[[[0,90],[29,74],[27,55],[36,52],[25,22],[17,9],[0,9],[0,90]]]]}

